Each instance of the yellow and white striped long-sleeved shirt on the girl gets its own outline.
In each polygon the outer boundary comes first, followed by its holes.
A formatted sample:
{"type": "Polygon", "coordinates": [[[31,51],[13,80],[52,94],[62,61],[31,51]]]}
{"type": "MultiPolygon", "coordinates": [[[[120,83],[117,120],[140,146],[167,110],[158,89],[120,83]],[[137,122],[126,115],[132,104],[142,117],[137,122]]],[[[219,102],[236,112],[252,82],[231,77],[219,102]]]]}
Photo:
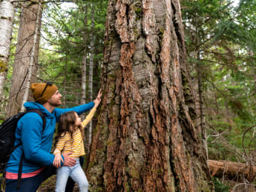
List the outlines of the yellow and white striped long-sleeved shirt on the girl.
{"type": "MultiPolygon", "coordinates": [[[[95,111],[96,108],[91,109],[88,116],[82,122],[82,128],[84,128],[90,122],[92,117],[94,117],[95,111]]],[[[72,158],[79,158],[79,156],[85,155],[84,141],[79,128],[77,128],[76,131],[73,131],[73,137],[71,137],[70,132],[67,132],[64,137],[58,138],[58,143],[56,144],[53,154],[59,152],[61,152],[61,154],[72,152],[72,154],[69,155],[72,158]]]]}

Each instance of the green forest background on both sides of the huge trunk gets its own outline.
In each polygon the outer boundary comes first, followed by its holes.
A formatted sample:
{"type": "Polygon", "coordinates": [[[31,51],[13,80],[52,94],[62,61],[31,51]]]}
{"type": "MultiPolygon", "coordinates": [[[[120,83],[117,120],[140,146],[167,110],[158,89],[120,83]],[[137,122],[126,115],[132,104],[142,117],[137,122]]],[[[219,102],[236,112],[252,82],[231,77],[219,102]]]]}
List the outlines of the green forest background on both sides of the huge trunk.
{"type": "MultiPolygon", "coordinates": [[[[10,58],[0,95],[1,121],[19,111],[24,99],[28,65],[21,64],[14,69],[15,62],[29,58],[28,53],[21,51],[21,47],[25,48],[22,42],[31,40],[34,52],[38,52],[37,72],[31,72],[31,78],[56,84],[63,95],[61,107],[91,102],[100,89],[108,1],[44,1],[40,9],[33,8],[34,2],[15,3],[10,58]],[[29,28],[23,26],[21,29],[21,21],[32,15],[37,16],[34,28],[39,31],[40,38],[34,40],[33,32],[23,35],[26,38],[22,39],[19,34],[29,28]],[[40,46],[36,46],[39,40],[40,46]]],[[[254,164],[256,2],[181,0],[180,5],[189,72],[197,93],[197,110],[201,114],[198,118],[206,129],[206,137],[202,140],[207,142],[208,158],[240,163],[250,159],[254,164]]],[[[94,123],[87,128],[89,143],[94,123]]],[[[224,191],[222,183],[234,188],[224,175],[216,180],[216,185],[224,191]]]]}

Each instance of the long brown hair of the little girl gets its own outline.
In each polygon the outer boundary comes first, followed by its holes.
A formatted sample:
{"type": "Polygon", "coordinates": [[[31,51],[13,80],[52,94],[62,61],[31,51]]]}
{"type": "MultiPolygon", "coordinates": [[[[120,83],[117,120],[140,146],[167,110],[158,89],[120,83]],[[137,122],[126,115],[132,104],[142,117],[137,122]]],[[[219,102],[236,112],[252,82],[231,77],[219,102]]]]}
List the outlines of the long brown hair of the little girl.
{"type": "Polygon", "coordinates": [[[70,132],[71,137],[73,136],[73,131],[79,128],[82,137],[84,137],[84,129],[82,126],[76,126],[76,112],[75,111],[68,111],[64,114],[61,114],[61,117],[58,120],[58,131],[57,135],[55,136],[55,143],[54,146],[58,143],[59,137],[64,137],[67,132],[70,132]]]}

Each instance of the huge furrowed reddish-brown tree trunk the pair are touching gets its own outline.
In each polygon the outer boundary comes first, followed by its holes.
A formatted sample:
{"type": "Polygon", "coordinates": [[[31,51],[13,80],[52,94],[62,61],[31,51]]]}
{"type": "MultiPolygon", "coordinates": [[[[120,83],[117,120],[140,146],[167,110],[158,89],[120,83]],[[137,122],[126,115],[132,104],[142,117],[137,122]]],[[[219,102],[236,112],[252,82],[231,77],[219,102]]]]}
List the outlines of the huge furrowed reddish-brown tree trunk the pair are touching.
{"type": "Polygon", "coordinates": [[[179,1],[109,1],[92,191],[213,191],[183,36],[179,1]]]}

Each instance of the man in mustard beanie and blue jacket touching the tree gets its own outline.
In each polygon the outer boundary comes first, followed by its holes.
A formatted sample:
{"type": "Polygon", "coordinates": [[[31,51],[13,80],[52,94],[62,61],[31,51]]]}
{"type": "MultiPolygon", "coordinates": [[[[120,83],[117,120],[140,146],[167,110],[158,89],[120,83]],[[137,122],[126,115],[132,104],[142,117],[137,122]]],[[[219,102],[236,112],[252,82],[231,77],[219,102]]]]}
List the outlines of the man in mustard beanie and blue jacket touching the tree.
{"type": "MultiPolygon", "coordinates": [[[[37,191],[40,184],[55,173],[55,167],[52,167],[54,155],[50,151],[52,149],[55,123],[58,118],[67,111],[76,111],[77,114],[82,114],[94,107],[94,102],[89,102],[74,108],[56,108],[61,105],[62,96],[58,91],[58,87],[54,84],[31,84],[31,90],[35,102],[26,102],[24,106],[27,110],[40,109],[46,118],[46,126],[43,129],[42,118],[34,112],[25,114],[19,120],[14,145],[18,146],[19,143],[21,145],[12,152],[7,163],[6,192],[37,191]],[[24,158],[22,158],[22,175],[19,181],[19,161],[22,153],[24,158]],[[19,182],[19,189],[17,189],[17,183],[19,182]]],[[[97,97],[100,97],[100,94],[97,97]]],[[[76,164],[76,160],[68,155],[70,154],[63,155],[64,163],[61,165],[72,167],[76,164]]],[[[69,191],[73,191],[73,188],[69,189],[69,191]]]]}

